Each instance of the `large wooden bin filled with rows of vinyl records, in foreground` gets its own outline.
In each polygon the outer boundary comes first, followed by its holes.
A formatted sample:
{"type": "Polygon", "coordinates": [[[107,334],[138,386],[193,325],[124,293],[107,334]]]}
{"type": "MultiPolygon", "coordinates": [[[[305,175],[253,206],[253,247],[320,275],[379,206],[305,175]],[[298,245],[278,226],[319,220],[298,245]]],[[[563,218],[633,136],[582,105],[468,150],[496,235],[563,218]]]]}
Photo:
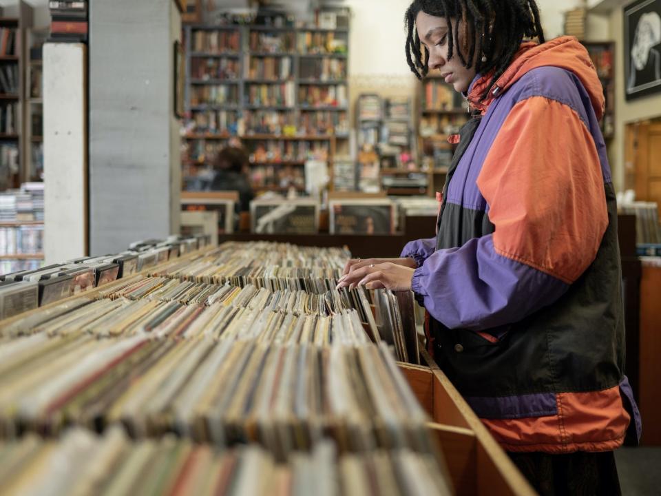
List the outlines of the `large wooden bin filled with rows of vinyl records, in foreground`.
{"type": "Polygon", "coordinates": [[[0,286],[3,487],[534,494],[419,346],[410,291],[336,289],[346,249],[171,242],[31,311],[34,281],[0,286]]]}

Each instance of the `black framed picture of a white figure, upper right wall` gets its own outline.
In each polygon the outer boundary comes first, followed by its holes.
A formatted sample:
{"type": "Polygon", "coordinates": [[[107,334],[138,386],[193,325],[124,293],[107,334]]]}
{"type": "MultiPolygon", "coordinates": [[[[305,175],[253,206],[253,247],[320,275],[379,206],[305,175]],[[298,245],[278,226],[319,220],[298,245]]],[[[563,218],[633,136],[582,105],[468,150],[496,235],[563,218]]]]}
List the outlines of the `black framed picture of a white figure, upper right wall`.
{"type": "Polygon", "coordinates": [[[661,0],[624,8],[625,97],[661,93],[661,0]]]}

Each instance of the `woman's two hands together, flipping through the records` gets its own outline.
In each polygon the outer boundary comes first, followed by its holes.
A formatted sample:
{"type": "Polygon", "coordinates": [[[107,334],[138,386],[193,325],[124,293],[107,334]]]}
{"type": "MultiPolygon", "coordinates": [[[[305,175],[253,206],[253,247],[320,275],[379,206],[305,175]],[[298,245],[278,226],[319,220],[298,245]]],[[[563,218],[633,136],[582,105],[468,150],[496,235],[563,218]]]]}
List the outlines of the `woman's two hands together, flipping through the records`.
{"type": "Polygon", "coordinates": [[[414,267],[406,267],[395,262],[361,265],[359,268],[350,269],[349,273],[342,276],[337,282],[336,289],[347,286],[349,289],[354,289],[364,285],[367,289],[410,291],[414,271],[414,267]]]}

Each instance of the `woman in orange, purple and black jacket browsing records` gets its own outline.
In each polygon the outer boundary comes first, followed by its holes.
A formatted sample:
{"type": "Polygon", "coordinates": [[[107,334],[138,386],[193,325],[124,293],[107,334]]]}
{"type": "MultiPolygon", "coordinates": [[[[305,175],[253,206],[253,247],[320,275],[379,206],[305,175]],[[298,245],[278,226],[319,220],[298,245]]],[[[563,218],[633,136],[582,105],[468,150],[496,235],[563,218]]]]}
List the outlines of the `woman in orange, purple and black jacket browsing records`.
{"type": "Polygon", "coordinates": [[[618,494],[613,450],[640,418],[594,66],[574,38],[545,43],[534,0],[415,0],[406,26],[412,71],[472,118],[437,236],[350,260],[338,286],[415,292],[435,359],[539,493],[618,494]]]}

